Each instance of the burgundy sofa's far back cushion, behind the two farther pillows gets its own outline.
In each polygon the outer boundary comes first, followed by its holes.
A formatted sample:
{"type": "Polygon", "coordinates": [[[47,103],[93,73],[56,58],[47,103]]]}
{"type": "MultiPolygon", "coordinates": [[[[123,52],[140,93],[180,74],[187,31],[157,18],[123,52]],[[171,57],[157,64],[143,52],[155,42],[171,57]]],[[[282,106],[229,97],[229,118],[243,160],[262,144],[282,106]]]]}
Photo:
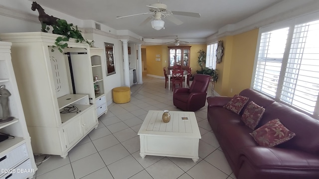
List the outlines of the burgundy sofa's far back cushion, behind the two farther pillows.
{"type": "Polygon", "coordinates": [[[246,103],[246,105],[244,106],[244,108],[240,114],[243,114],[243,112],[245,111],[245,109],[250,101],[254,101],[257,105],[264,107],[264,108],[266,108],[269,104],[275,102],[274,99],[267,97],[266,95],[264,95],[260,92],[254,91],[253,89],[244,89],[239,93],[239,95],[249,97],[248,102],[246,103]]]}

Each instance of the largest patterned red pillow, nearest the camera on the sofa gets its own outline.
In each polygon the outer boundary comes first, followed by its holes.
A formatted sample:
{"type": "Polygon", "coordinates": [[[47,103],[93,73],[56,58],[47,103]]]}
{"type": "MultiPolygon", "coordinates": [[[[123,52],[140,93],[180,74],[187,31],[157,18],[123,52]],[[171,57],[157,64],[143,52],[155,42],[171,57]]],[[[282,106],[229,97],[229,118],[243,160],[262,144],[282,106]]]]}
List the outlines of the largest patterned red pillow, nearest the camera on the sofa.
{"type": "Polygon", "coordinates": [[[274,119],[254,130],[250,135],[260,146],[274,147],[292,139],[296,134],[288,130],[279,119],[274,119]]]}

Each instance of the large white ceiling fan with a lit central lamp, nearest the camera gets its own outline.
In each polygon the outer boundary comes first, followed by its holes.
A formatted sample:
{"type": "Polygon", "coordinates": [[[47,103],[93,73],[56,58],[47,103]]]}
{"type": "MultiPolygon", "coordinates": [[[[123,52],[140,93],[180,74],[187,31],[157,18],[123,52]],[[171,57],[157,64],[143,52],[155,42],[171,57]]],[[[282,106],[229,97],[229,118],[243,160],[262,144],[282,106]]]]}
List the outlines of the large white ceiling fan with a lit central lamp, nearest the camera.
{"type": "Polygon", "coordinates": [[[149,16],[147,19],[145,19],[141,25],[144,25],[151,21],[152,27],[156,30],[160,30],[164,28],[164,21],[161,18],[166,18],[167,20],[173,22],[176,25],[180,25],[183,22],[179,20],[178,18],[174,17],[173,15],[184,15],[184,16],[189,16],[189,17],[200,17],[199,13],[195,12],[184,12],[184,11],[170,11],[167,10],[167,5],[160,3],[151,4],[147,5],[149,7],[151,12],[144,12],[144,13],[138,13],[138,14],[132,14],[132,15],[126,15],[126,16],[117,16],[116,18],[124,18],[124,17],[131,17],[135,15],[143,15],[143,14],[152,14],[149,16]]]}

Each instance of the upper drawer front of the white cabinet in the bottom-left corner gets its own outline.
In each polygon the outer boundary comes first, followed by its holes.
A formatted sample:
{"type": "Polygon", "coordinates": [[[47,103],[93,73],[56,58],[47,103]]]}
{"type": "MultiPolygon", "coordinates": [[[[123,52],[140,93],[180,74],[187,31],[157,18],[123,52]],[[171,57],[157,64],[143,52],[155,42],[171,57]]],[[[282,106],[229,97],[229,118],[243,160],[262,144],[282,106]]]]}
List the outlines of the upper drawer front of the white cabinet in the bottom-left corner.
{"type": "MultiPolygon", "coordinates": [[[[24,143],[8,152],[5,156],[0,156],[0,169],[11,169],[27,158],[29,158],[29,154],[26,144],[24,143]]],[[[2,173],[0,175],[2,175],[2,173]]]]}

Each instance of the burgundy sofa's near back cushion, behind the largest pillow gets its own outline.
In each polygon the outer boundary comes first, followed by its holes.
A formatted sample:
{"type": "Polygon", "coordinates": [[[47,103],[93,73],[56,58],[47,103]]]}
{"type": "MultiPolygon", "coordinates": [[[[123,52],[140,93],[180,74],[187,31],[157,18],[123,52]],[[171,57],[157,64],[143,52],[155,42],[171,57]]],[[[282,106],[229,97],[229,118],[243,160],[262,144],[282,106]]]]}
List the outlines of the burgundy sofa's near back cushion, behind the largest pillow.
{"type": "Polygon", "coordinates": [[[281,148],[302,150],[319,155],[319,120],[301,113],[287,105],[274,102],[267,106],[256,128],[278,118],[296,136],[278,145],[281,148]]]}

